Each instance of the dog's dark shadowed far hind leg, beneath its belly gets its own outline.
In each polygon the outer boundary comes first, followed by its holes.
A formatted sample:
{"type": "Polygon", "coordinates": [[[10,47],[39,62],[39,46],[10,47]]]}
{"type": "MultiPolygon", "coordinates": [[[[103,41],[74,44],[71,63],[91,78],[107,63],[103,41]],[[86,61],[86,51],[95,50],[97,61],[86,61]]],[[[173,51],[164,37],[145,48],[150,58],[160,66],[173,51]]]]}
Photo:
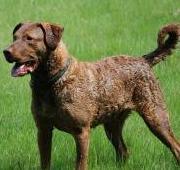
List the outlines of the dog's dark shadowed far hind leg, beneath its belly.
{"type": "Polygon", "coordinates": [[[116,151],[116,160],[125,160],[128,157],[128,151],[122,137],[122,129],[126,118],[127,112],[122,112],[120,119],[112,118],[104,124],[106,135],[116,151]]]}

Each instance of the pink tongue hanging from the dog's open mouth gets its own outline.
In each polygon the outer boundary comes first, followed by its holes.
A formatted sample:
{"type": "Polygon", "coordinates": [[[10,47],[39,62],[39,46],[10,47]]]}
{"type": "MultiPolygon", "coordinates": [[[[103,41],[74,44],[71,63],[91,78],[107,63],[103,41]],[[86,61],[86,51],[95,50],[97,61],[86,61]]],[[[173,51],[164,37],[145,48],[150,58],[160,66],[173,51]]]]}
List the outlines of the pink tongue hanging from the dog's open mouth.
{"type": "Polygon", "coordinates": [[[15,65],[11,70],[11,75],[13,77],[24,76],[28,72],[32,72],[32,67],[28,67],[25,64],[20,66],[15,65]]]}

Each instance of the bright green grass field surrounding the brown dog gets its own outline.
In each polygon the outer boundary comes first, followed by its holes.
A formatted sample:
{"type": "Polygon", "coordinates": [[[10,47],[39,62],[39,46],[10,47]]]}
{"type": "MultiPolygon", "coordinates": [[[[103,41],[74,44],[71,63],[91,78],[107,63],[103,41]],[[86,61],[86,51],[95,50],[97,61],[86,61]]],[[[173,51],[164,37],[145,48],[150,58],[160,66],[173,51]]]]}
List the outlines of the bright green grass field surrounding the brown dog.
{"type": "MultiPolygon", "coordinates": [[[[0,170],[39,168],[36,128],[31,116],[29,76],[12,78],[2,50],[12,41],[14,26],[23,21],[49,21],[65,27],[63,40],[80,60],[115,54],[140,56],[156,47],[161,26],[180,22],[179,0],[0,0],[0,170]]],[[[173,131],[180,139],[180,50],[154,68],[170,111],[173,131]]],[[[126,163],[116,164],[113,147],[101,126],[92,130],[90,170],[176,170],[170,151],[143,120],[133,114],[124,128],[130,151],[126,163]]],[[[54,130],[52,169],[71,170],[75,143],[54,130]]]]}

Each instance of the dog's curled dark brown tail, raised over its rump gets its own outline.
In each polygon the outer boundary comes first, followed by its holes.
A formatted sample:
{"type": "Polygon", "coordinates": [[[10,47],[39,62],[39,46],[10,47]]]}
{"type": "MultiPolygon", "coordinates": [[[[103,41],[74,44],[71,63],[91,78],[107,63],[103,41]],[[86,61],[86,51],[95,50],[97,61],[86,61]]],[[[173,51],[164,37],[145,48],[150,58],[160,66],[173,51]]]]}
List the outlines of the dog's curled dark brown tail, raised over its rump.
{"type": "Polygon", "coordinates": [[[151,67],[164,60],[175,48],[180,37],[180,24],[170,24],[164,26],[158,33],[158,47],[151,53],[143,57],[151,67]],[[168,37],[167,37],[168,35],[168,37]],[[167,38],[166,38],[167,37],[167,38]]]}

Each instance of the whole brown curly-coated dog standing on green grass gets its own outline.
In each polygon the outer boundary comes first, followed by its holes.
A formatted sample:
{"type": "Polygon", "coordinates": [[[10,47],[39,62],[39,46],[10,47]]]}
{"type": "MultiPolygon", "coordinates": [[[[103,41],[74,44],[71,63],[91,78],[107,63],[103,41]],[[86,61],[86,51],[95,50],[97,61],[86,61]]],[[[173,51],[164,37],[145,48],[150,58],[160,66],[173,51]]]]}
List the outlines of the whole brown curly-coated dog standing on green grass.
{"type": "Polygon", "coordinates": [[[180,25],[161,29],[158,48],[139,58],[114,56],[95,63],[79,62],[61,40],[63,28],[48,23],[18,24],[13,43],[4,50],[15,62],[12,75],[31,74],[32,112],[38,128],[41,168],[50,169],[54,127],[73,135],[77,147],[76,169],[87,168],[90,128],[103,124],[117,159],[127,157],[123,124],[132,110],[180,162],[168,112],[152,67],[171,53],[180,25]],[[169,38],[165,41],[165,37],[169,38]]]}

